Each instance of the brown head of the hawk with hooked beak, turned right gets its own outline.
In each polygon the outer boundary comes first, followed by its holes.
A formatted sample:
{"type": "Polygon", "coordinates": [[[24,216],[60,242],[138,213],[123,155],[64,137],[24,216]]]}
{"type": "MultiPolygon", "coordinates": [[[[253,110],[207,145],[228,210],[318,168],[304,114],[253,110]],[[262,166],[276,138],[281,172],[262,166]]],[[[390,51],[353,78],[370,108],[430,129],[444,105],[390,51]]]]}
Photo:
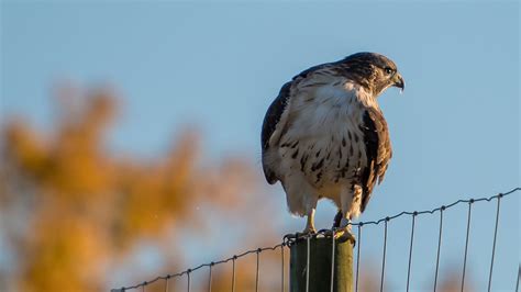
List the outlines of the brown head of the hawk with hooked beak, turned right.
{"type": "Polygon", "coordinates": [[[339,63],[342,75],[356,81],[378,96],[389,87],[404,89],[404,81],[396,64],[384,55],[376,53],[357,53],[339,63]]]}

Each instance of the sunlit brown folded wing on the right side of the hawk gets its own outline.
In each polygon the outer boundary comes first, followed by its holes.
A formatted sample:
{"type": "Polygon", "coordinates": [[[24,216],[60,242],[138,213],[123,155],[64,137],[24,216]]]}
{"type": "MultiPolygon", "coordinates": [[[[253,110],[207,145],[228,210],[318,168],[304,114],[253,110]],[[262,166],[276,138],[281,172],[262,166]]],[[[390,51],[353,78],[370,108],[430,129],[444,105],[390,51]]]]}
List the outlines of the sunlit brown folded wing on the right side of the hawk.
{"type": "Polygon", "coordinates": [[[384,180],[387,166],[392,156],[392,149],[387,122],[380,110],[367,109],[364,113],[364,124],[361,128],[364,132],[367,154],[367,168],[362,173],[364,195],[362,198],[361,211],[364,212],[376,181],[378,180],[378,183],[380,183],[384,180]]]}

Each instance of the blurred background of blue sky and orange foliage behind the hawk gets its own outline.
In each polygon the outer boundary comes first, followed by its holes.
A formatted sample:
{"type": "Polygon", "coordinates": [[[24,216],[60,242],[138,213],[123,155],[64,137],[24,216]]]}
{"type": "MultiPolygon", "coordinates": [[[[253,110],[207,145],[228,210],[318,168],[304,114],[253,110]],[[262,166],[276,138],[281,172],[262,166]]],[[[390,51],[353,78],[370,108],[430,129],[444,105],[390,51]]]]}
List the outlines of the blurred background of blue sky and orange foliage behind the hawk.
{"type": "MultiPolygon", "coordinates": [[[[0,291],[131,285],[302,229],[264,181],[264,113],[293,75],[359,50],[389,56],[407,81],[379,99],[395,155],[362,221],[520,186],[518,1],[0,8],[0,291]]],[[[495,207],[473,210],[468,290],[487,288],[495,207]]],[[[519,194],[501,205],[494,291],[516,287],[519,210],[519,194]]],[[[321,202],[318,227],[334,214],[321,202]]],[[[445,215],[441,287],[458,291],[466,205],[445,215]]],[[[417,220],[414,291],[432,289],[437,223],[417,220]]],[[[410,217],[389,224],[390,291],[404,290],[409,236],[410,217]]],[[[365,291],[379,288],[381,246],[381,225],[367,226],[365,291]]],[[[252,290],[255,256],[237,265],[252,290]]],[[[263,252],[263,291],[278,289],[279,265],[263,252]]],[[[213,291],[230,289],[230,270],[214,271],[213,291]]],[[[206,288],[206,270],[192,277],[206,288]]]]}

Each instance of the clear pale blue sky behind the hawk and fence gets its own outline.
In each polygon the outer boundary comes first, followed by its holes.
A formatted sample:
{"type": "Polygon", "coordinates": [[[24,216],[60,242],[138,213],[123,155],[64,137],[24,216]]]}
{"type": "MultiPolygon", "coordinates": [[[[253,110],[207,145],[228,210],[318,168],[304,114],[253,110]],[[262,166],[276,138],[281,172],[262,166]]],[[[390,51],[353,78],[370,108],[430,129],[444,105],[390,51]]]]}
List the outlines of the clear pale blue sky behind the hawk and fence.
{"type": "MultiPolygon", "coordinates": [[[[45,128],[53,119],[48,96],[55,81],[108,81],[125,99],[112,149],[154,156],[173,133],[197,123],[210,157],[240,153],[260,168],[260,125],[280,86],[312,65],[370,50],[392,58],[407,87],[403,94],[391,89],[379,99],[395,155],[362,220],[520,184],[517,1],[4,1],[1,8],[2,117],[24,114],[45,128]]],[[[284,213],[281,188],[269,190],[276,193],[269,200],[280,201],[280,210],[268,211],[284,214],[280,234],[301,229],[303,220],[284,213]]],[[[502,207],[498,291],[516,284],[519,193],[502,207]]],[[[442,267],[461,265],[465,212],[456,209],[447,223],[442,267]]],[[[319,228],[329,227],[333,214],[323,203],[319,228]]],[[[473,213],[469,269],[484,289],[494,217],[492,204],[473,213]]],[[[418,221],[423,225],[414,247],[418,285],[432,278],[436,223],[435,216],[418,221]]],[[[389,227],[387,265],[396,269],[388,277],[396,288],[403,288],[409,226],[410,218],[389,227]]],[[[363,249],[374,259],[381,252],[380,231],[375,227],[363,249]]]]}

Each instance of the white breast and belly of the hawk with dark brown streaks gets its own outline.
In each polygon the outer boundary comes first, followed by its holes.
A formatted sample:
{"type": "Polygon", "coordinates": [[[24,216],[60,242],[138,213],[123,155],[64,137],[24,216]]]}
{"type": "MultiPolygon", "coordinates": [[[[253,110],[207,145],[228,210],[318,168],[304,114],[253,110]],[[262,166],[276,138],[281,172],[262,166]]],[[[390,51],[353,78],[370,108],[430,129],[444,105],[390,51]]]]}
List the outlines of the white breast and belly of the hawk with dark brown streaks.
{"type": "Polygon", "coordinates": [[[367,167],[359,100],[365,92],[341,80],[296,90],[279,144],[282,169],[303,172],[319,190],[352,184],[367,167]]]}

